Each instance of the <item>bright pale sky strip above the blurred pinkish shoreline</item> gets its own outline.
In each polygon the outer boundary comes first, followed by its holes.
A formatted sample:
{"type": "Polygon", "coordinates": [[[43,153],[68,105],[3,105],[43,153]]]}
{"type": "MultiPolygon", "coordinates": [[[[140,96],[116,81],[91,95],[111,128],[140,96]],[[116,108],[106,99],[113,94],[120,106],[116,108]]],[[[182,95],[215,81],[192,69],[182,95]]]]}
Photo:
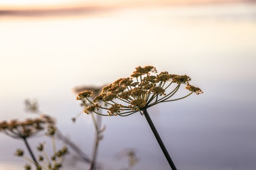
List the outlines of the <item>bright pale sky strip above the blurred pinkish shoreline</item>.
{"type": "MultiPolygon", "coordinates": [[[[230,2],[234,0],[223,0],[230,2]]],[[[214,0],[0,0],[0,10],[72,8],[84,6],[155,6],[214,2],[214,0]]]]}

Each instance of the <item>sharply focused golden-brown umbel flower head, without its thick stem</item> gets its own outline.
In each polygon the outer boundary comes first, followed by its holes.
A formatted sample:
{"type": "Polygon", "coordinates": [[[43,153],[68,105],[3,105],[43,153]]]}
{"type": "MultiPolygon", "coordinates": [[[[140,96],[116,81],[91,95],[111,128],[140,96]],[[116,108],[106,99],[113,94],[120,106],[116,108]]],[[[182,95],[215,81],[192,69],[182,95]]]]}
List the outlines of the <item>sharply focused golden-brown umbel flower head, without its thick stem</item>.
{"type": "Polygon", "coordinates": [[[170,74],[163,71],[157,74],[154,66],[138,66],[127,78],[121,78],[102,88],[101,93],[94,97],[93,91],[85,90],[77,94],[77,100],[88,100],[91,103],[84,110],[85,113],[97,113],[102,116],[128,116],[136,112],[143,115],[143,110],[161,102],[183,99],[192,93],[203,91],[190,85],[191,78],[187,75],[170,74]],[[173,90],[168,88],[173,87],[173,90]],[[181,85],[190,91],[184,97],[170,99],[181,85]],[[167,93],[168,91],[168,93],[167,93]],[[170,92],[169,92],[170,91],[170,92]],[[107,104],[102,107],[100,102],[107,104]],[[99,109],[107,110],[108,114],[99,113],[99,109]]]}

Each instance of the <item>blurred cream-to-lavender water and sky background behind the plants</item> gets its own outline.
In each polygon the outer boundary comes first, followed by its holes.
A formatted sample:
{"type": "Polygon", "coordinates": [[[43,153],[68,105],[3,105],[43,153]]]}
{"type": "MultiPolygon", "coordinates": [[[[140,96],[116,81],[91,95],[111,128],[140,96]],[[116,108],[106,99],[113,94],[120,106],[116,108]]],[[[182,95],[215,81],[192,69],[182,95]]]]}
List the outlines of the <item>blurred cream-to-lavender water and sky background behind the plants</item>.
{"type": "MultiPolygon", "coordinates": [[[[72,88],[154,65],[191,76],[204,91],[149,109],[177,168],[256,169],[256,2],[96,2],[0,1],[0,119],[35,117],[25,113],[24,99],[36,98],[90,155],[93,124],[85,114],[72,123],[82,110],[72,88]]],[[[103,124],[104,170],[126,167],[115,157],[124,148],[140,158],[135,170],[169,169],[143,116],[103,117],[103,124]]],[[[13,153],[24,144],[0,139],[0,170],[22,169],[13,153]]]]}

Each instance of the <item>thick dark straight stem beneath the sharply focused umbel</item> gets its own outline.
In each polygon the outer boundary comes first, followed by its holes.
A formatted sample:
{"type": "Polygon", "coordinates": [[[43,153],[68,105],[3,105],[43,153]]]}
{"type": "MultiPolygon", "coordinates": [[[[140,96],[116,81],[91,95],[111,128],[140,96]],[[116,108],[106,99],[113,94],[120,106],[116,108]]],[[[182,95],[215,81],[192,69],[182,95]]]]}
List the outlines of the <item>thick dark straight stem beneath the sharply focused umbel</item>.
{"type": "Polygon", "coordinates": [[[143,113],[144,113],[144,115],[145,115],[145,117],[146,117],[146,120],[148,121],[148,124],[149,124],[149,126],[150,126],[152,132],[153,132],[154,135],[155,135],[155,138],[157,139],[157,142],[158,142],[160,148],[161,148],[162,151],[163,151],[163,154],[165,155],[165,158],[167,159],[168,163],[170,164],[171,169],[172,169],[172,170],[177,170],[177,168],[175,167],[173,161],[171,160],[171,157],[170,157],[168,151],[166,150],[165,145],[163,144],[163,141],[162,141],[162,139],[160,138],[160,136],[159,136],[159,134],[158,134],[158,132],[157,132],[157,130],[156,130],[156,128],[155,128],[155,126],[154,126],[152,120],[151,120],[151,118],[149,117],[148,111],[147,111],[146,109],[144,109],[144,110],[143,110],[143,113]]]}

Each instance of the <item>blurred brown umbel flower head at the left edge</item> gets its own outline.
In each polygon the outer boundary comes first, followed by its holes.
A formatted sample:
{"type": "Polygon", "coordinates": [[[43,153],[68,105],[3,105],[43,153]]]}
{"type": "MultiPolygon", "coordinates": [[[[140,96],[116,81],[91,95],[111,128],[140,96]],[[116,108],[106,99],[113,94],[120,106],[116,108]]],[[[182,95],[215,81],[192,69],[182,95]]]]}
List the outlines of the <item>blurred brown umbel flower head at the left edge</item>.
{"type": "Polygon", "coordinates": [[[0,122],[0,132],[11,136],[12,138],[28,138],[35,136],[47,127],[52,127],[55,121],[50,116],[42,115],[35,119],[26,119],[25,121],[3,121],[0,122]]]}

